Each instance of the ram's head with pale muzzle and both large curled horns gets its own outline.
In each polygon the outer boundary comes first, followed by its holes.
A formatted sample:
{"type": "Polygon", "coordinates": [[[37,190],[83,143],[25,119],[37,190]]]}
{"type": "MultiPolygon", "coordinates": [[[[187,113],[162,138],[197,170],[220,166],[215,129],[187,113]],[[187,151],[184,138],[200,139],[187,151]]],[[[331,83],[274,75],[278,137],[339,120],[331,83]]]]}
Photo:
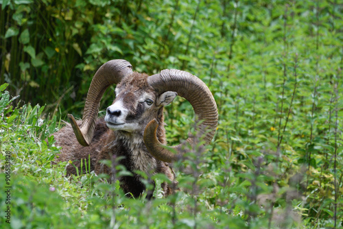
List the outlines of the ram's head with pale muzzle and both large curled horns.
{"type": "MultiPolygon", "coordinates": [[[[132,65],[126,60],[110,60],[93,77],[82,125],[79,127],[73,116],[68,115],[81,145],[91,143],[100,100],[106,88],[112,84],[117,84],[116,98],[106,109],[106,125],[111,130],[142,133],[145,146],[158,160],[176,160],[176,155],[156,138],[160,124],[156,119],[162,114],[163,106],[169,104],[176,95],[184,97],[193,106],[196,117],[202,121],[198,130],[204,134],[205,143],[213,138],[217,128],[217,106],[209,88],[198,77],[176,69],[165,69],[148,76],[133,72],[132,65]]],[[[193,136],[189,136],[187,141],[192,144],[193,136]]],[[[173,148],[176,152],[180,151],[180,145],[173,148]]]]}

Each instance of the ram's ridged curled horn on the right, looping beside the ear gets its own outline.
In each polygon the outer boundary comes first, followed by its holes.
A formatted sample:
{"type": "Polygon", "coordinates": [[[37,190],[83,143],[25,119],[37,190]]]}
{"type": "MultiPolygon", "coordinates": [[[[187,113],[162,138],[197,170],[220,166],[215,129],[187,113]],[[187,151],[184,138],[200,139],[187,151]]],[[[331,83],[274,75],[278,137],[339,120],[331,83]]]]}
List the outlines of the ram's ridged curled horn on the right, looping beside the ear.
{"type": "MultiPolygon", "coordinates": [[[[176,69],[165,69],[156,75],[147,78],[147,83],[156,90],[158,94],[166,91],[175,91],[184,97],[193,106],[196,117],[203,121],[198,131],[200,136],[204,135],[205,144],[209,144],[215,134],[218,122],[217,104],[209,88],[198,77],[176,69]]],[[[144,143],[150,154],[158,160],[172,162],[177,156],[170,152],[166,146],[162,145],[156,138],[156,121],[150,121],[144,131],[144,143]]],[[[187,142],[193,143],[193,137],[189,136],[187,142]]],[[[171,147],[178,154],[181,144],[171,147]]]]}

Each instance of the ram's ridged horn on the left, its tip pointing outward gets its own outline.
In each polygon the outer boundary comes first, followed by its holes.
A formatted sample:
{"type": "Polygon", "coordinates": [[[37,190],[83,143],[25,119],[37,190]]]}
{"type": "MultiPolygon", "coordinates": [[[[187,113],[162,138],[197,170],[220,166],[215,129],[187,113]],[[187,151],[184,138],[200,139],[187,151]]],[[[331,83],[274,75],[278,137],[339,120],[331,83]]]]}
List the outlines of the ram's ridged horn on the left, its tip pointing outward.
{"type": "Polygon", "coordinates": [[[126,60],[110,60],[97,70],[88,89],[80,128],[73,115],[68,114],[75,136],[81,145],[88,146],[92,141],[100,100],[108,86],[118,84],[123,77],[131,73],[132,65],[126,60]]]}

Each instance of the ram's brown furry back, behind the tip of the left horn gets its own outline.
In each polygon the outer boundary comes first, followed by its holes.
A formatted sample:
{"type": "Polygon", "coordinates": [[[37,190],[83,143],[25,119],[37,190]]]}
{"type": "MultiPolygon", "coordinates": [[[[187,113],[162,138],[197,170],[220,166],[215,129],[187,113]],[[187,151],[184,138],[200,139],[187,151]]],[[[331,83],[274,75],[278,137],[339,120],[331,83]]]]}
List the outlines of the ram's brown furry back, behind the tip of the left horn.
{"type": "MultiPolygon", "coordinates": [[[[78,125],[82,122],[78,121],[78,125]]],[[[93,171],[95,168],[95,163],[97,161],[97,156],[101,151],[102,147],[104,147],[105,141],[101,141],[100,139],[106,139],[108,136],[108,127],[106,126],[106,122],[104,119],[97,119],[97,123],[95,125],[95,132],[93,136],[93,140],[90,146],[84,147],[78,143],[78,140],[75,137],[73,132],[73,128],[71,125],[67,124],[59,130],[58,132],[54,133],[54,138],[56,140],[56,145],[62,147],[60,150],[60,154],[58,154],[58,158],[56,158],[56,162],[58,161],[69,161],[73,162],[73,165],[67,166],[67,175],[76,174],[75,167],[78,167],[79,173],[81,167],[81,159],[82,159],[82,170],[93,171]],[[91,168],[88,169],[88,154],[91,158],[91,168]],[[85,160],[86,159],[86,166],[85,160]],[[75,167],[74,167],[75,165],[75,167]]]]}

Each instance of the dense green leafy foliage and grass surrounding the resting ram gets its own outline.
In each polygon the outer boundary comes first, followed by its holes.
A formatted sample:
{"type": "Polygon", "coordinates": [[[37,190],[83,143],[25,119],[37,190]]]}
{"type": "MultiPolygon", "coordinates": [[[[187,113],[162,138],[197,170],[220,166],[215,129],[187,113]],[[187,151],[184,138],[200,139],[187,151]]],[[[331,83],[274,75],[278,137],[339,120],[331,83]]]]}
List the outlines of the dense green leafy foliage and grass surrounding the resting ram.
{"type": "MultiPolygon", "coordinates": [[[[0,185],[8,151],[12,228],[343,226],[342,1],[0,4],[0,185]],[[51,165],[58,148],[42,140],[67,113],[82,117],[93,74],[117,58],[150,74],[189,71],[217,101],[213,143],[192,151],[201,160],[174,165],[176,195],[132,200],[104,176],[67,178],[69,162],[51,165]]],[[[173,145],[187,136],[193,111],[178,98],[165,115],[173,145]]],[[[1,194],[3,228],[7,206],[1,194]]]]}

